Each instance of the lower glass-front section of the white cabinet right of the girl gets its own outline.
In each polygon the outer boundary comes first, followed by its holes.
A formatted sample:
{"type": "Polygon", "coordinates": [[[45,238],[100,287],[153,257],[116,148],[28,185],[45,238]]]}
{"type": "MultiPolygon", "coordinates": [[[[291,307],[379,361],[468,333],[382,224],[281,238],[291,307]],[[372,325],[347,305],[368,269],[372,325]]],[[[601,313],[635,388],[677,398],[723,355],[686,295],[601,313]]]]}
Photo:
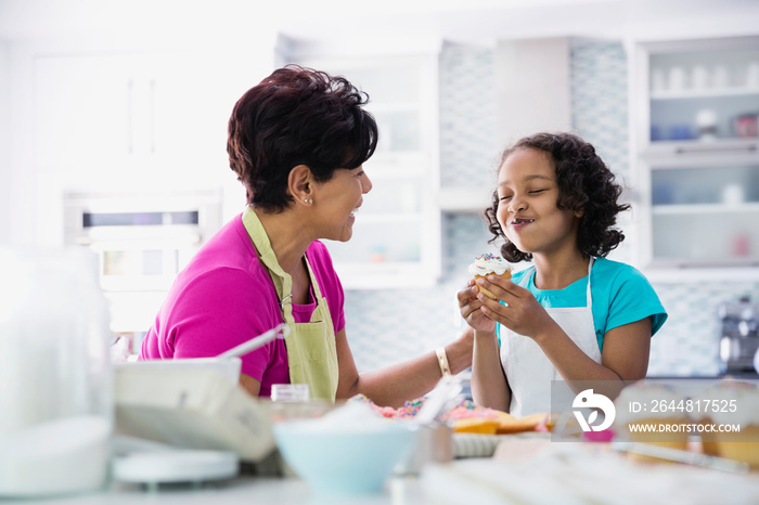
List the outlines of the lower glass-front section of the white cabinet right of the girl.
{"type": "Polygon", "coordinates": [[[654,267],[759,264],[759,161],[651,159],[654,267]]]}

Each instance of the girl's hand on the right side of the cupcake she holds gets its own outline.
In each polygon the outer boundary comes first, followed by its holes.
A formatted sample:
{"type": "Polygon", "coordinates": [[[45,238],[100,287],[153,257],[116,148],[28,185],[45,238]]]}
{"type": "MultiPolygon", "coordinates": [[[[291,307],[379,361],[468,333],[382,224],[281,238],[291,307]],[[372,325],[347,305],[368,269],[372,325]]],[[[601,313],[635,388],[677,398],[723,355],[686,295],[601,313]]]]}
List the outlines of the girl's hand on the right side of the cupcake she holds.
{"type": "Polygon", "coordinates": [[[500,303],[481,293],[477,295],[481,303],[480,311],[492,321],[535,340],[555,328],[556,322],[528,289],[498,275],[489,275],[487,280],[478,279],[477,284],[505,303],[500,303]]]}

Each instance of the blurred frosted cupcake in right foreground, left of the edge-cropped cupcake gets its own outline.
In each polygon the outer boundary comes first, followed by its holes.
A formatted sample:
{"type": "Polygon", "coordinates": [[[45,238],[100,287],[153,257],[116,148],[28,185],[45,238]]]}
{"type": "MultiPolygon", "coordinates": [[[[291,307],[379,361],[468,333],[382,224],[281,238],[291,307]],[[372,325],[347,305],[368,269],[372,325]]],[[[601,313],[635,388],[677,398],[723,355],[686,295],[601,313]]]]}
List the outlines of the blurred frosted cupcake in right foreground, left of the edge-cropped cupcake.
{"type": "MultiPolygon", "coordinates": [[[[692,423],[684,404],[685,397],[668,385],[634,383],[622,389],[614,402],[614,430],[631,442],[685,451],[692,423]]],[[[640,454],[631,456],[659,461],[640,454]]]]}

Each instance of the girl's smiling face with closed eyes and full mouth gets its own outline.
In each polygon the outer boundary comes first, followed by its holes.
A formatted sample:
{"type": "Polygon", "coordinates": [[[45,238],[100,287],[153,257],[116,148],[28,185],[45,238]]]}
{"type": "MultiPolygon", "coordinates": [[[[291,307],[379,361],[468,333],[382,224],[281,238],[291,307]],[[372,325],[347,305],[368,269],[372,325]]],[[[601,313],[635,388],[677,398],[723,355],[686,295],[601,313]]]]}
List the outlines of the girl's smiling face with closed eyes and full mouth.
{"type": "Polygon", "coordinates": [[[498,222],[523,252],[577,247],[580,215],[556,206],[556,169],[548,153],[523,147],[510,154],[499,169],[498,198],[498,222]]]}

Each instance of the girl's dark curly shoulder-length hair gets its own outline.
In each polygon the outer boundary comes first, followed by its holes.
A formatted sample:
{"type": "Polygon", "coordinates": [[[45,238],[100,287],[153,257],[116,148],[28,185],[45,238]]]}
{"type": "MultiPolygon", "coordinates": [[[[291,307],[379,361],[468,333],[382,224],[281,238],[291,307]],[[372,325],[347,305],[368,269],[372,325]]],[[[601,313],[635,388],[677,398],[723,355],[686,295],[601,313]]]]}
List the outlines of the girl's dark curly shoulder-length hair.
{"type": "MultiPolygon", "coordinates": [[[[617,222],[617,213],[628,210],[630,205],[617,202],[622,187],[614,182],[614,173],[591,144],[571,133],[536,133],[505,150],[499,170],[512,153],[523,148],[549,154],[556,168],[556,206],[563,210],[582,211],[577,247],[583,255],[605,257],[625,239],[625,234],[612,226],[617,222]]],[[[491,207],[485,210],[488,229],[494,235],[488,242],[505,241],[501,255],[507,261],[531,260],[531,254],[517,249],[503,233],[497,218],[498,203],[498,191],[494,191],[491,207]]]]}

